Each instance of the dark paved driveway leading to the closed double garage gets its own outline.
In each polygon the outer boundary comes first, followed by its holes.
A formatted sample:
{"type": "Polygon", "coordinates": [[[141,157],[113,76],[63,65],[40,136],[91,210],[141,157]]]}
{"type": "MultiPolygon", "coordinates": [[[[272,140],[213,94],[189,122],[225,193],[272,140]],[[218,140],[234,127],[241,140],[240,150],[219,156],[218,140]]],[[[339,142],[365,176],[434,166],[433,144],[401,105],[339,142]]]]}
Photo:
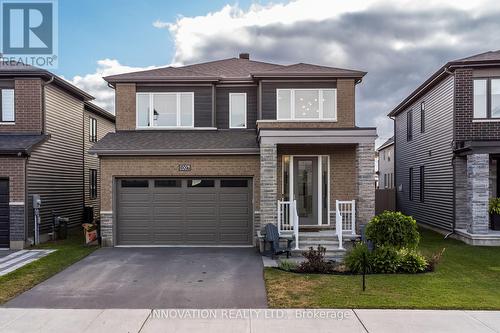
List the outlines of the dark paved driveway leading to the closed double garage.
{"type": "Polygon", "coordinates": [[[104,248],[5,306],[265,308],[267,301],[253,248],[104,248]]]}

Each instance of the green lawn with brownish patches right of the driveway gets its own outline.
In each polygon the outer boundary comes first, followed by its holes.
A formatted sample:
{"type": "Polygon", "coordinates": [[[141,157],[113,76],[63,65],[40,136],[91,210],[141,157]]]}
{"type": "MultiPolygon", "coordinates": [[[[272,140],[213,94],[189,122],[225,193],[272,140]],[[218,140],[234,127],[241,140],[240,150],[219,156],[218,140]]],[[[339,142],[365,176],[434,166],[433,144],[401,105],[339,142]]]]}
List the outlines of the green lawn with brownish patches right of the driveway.
{"type": "Polygon", "coordinates": [[[421,230],[420,249],[446,248],[433,273],[367,276],[300,275],[266,268],[273,308],[500,309],[500,247],[472,247],[421,230]]]}

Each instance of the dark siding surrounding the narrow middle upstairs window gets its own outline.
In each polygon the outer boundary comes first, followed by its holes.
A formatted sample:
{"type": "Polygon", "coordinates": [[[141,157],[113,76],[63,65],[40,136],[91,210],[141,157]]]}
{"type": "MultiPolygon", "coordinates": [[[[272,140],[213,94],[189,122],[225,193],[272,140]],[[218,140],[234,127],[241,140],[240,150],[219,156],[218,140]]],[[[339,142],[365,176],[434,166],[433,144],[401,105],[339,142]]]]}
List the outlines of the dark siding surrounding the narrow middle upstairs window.
{"type": "Polygon", "coordinates": [[[229,94],[247,94],[247,128],[256,128],[257,122],[257,86],[218,87],[216,89],[217,128],[229,128],[229,94]]]}

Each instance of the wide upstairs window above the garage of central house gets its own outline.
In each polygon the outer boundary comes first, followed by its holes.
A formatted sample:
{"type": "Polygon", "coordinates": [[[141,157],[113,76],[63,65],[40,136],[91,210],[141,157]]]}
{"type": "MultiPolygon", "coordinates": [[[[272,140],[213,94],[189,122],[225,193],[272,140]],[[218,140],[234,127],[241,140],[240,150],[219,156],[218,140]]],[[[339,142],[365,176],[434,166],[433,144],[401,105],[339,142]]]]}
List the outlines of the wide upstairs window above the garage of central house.
{"type": "Polygon", "coordinates": [[[137,127],[194,127],[194,93],[137,93],[137,127]]]}

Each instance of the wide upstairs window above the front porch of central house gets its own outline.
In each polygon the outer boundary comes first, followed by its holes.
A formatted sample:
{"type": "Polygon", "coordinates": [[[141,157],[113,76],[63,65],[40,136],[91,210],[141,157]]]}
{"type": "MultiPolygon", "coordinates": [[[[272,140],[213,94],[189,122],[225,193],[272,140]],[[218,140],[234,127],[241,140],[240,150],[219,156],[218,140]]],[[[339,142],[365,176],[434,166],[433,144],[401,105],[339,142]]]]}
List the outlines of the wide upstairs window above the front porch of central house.
{"type": "Polygon", "coordinates": [[[337,120],[337,89],[277,89],[278,120],[337,120]]]}

